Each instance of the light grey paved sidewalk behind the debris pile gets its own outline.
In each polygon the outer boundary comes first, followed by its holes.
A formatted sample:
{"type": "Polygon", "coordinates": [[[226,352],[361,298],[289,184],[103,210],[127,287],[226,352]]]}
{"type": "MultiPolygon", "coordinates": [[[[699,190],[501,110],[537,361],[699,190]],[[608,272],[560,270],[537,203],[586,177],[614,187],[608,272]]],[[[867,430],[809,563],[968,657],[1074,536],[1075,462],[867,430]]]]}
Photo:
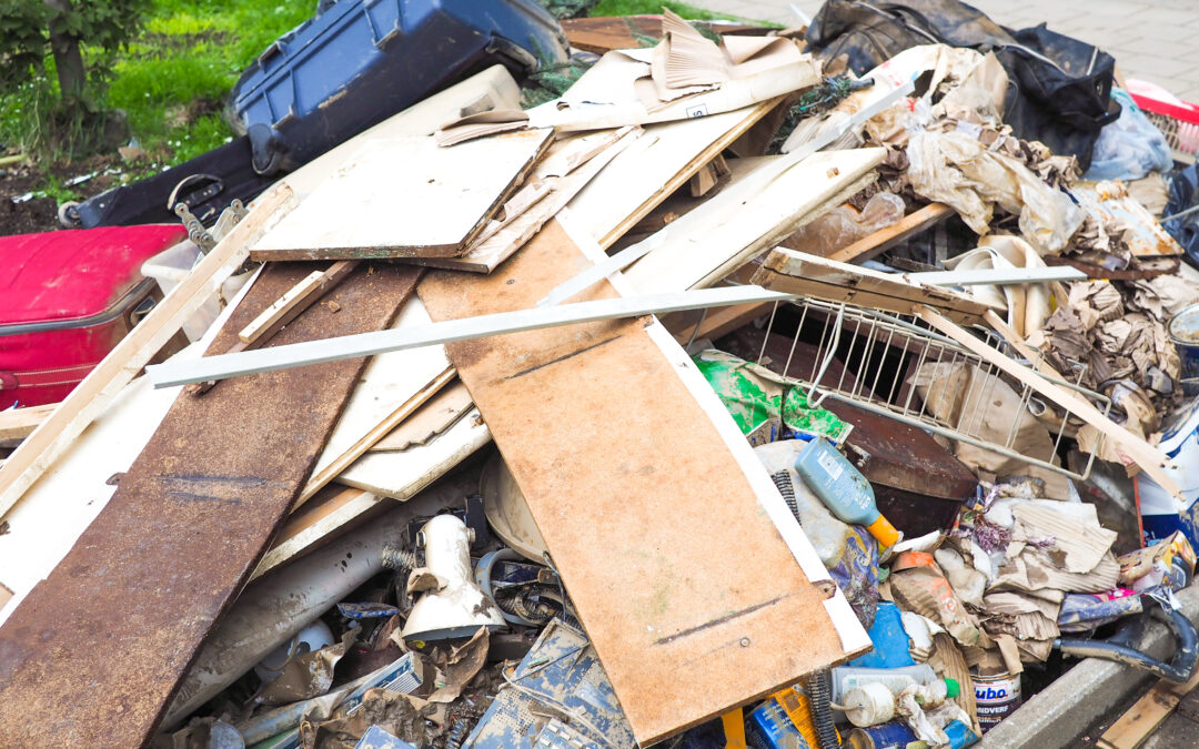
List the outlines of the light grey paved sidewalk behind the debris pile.
{"type": "MultiPolygon", "coordinates": [[[[799,25],[794,5],[808,17],[820,0],[688,0],[692,5],[743,18],[799,25]]],[[[972,0],[1005,26],[1042,22],[1059,34],[1098,44],[1116,59],[1125,78],[1164,86],[1199,102],[1199,0],[972,0]]]]}

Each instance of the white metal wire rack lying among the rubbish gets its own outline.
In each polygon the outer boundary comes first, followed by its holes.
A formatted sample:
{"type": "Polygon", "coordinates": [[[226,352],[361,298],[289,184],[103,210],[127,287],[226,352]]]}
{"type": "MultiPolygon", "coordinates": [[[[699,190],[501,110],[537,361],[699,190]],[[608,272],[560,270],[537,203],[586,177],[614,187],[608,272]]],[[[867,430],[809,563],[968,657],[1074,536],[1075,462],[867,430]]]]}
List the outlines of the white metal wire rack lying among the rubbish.
{"type": "MultiPolygon", "coordinates": [[[[812,298],[784,304],[771,310],[758,361],[805,386],[812,407],[832,398],[1072,478],[1090,475],[1093,454],[1080,472],[1056,460],[1062,439],[1072,437],[1080,421],[922,321],[812,298]],[[784,362],[766,355],[772,334],[790,338],[784,362]],[[835,361],[839,366],[832,367],[835,361]],[[1052,447],[1044,440],[1034,440],[1038,445],[1030,447],[1030,440],[1020,439],[1030,418],[1047,428],[1052,447]]],[[[1002,351],[1006,345],[992,337],[988,343],[1002,351]]],[[[1104,415],[1110,411],[1109,398],[1078,382],[1046,379],[1080,394],[1104,415]]]]}

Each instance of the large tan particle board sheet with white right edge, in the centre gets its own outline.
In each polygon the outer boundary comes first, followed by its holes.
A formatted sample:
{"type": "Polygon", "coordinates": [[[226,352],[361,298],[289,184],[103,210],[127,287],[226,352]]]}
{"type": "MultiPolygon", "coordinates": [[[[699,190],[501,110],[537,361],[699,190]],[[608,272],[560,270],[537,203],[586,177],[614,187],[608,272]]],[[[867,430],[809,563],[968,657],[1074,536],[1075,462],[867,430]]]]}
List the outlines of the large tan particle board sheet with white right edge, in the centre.
{"type": "MultiPolygon", "coordinates": [[[[490,276],[436,272],[418,292],[434,320],[529,308],[592,255],[555,219],[490,276]]],[[[616,295],[604,282],[579,301],[616,295]]],[[[731,417],[653,318],[446,349],[643,745],[868,647],[731,417]]]]}

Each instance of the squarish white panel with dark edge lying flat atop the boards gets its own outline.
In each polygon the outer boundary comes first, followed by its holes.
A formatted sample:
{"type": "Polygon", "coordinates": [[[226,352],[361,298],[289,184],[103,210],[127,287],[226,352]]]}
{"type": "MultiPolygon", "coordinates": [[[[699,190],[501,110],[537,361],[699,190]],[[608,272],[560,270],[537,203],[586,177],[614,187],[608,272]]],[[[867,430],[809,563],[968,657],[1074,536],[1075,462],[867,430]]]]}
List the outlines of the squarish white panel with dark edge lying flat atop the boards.
{"type": "Polygon", "coordinates": [[[251,258],[460,255],[553,138],[544,128],[450,147],[432,135],[372,140],[264,236],[251,258]]]}

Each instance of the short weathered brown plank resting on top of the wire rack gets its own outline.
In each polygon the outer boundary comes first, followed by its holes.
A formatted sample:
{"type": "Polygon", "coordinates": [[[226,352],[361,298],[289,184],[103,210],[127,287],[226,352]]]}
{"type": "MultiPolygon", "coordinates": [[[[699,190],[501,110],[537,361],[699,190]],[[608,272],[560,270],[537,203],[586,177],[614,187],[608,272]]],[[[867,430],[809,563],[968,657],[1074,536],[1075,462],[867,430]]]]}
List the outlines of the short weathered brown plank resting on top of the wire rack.
{"type": "Polygon", "coordinates": [[[982,302],[948,289],[912,283],[908,277],[826,260],[785,247],[776,247],[754,273],[752,283],[767,289],[846,302],[905,315],[917,307],[935,307],[952,320],[981,324],[989,309],[982,302]]]}

